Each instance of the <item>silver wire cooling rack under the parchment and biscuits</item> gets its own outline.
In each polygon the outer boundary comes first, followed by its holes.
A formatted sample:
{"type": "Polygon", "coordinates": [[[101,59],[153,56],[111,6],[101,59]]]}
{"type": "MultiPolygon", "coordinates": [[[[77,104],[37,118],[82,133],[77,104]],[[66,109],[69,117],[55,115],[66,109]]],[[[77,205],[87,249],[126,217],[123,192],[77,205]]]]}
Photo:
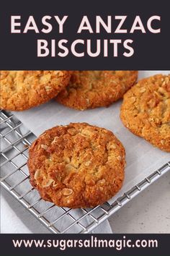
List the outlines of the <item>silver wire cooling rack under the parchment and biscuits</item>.
{"type": "Polygon", "coordinates": [[[29,182],[28,148],[35,140],[35,135],[8,111],[1,111],[0,119],[1,185],[55,234],[89,233],[162,174],[170,171],[169,162],[118,198],[112,205],[105,202],[104,205],[93,209],[59,208],[53,203],[42,200],[29,182]]]}

